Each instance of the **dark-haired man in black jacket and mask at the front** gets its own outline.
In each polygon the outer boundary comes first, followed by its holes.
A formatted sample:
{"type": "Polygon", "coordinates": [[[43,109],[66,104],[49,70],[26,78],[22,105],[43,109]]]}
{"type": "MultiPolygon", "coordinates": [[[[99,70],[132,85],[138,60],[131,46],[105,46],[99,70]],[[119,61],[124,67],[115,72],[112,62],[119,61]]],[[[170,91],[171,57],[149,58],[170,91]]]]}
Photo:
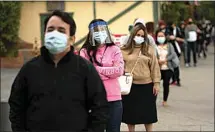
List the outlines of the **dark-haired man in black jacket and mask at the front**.
{"type": "Polygon", "coordinates": [[[41,55],[16,76],[9,97],[12,130],[102,132],[108,103],[104,85],[88,61],[73,53],[76,24],[66,12],[45,20],[41,55]]]}

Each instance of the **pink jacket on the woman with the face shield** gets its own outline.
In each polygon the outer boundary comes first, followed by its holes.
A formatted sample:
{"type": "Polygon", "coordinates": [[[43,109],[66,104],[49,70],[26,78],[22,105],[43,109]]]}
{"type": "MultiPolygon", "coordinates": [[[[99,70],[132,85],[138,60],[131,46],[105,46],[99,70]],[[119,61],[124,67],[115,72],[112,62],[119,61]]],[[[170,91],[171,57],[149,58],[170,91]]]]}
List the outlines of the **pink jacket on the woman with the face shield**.
{"type": "MultiPolygon", "coordinates": [[[[102,64],[102,67],[96,65],[95,63],[94,66],[103,80],[107,92],[107,100],[121,100],[118,77],[124,72],[122,53],[118,46],[109,46],[106,50],[105,49],[106,46],[99,48],[96,55],[96,59],[102,64]]],[[[80,56],[89,60],[86,49],[81,49],[80,56]]]]}

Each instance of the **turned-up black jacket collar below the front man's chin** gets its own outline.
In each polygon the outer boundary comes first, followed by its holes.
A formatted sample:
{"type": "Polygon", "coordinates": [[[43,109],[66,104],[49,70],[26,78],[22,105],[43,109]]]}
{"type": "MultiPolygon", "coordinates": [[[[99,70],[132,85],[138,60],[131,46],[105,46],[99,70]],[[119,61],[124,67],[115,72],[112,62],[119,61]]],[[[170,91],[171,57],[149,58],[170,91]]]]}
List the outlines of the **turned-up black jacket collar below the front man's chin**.
{"type": "MultiPolygon", "coordinates": [[[[49,53],[48,49],[46,49],[45,46],[41,47],[40,53],[41,53],[41,56],[44,58],[44,60],[47,63],[55,64],[54,61],[51,58],[51,54],[49,53]]],[[[69,62],[73,55],[74,55],[74,47],[71,46],[70,51],[58,62],[58,64],[69,62]]]]}

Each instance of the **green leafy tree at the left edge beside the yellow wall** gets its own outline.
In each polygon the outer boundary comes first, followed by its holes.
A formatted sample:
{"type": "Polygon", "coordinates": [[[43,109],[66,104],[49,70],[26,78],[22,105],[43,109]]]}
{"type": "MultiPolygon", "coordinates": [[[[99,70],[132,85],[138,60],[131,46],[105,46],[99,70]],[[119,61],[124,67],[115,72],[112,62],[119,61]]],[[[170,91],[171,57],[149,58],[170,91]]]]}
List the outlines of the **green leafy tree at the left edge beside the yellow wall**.
{"type": "Polygon", "coordinates": [[[21,2],[0,2],[0,56],[15,56],[21,2]]]}

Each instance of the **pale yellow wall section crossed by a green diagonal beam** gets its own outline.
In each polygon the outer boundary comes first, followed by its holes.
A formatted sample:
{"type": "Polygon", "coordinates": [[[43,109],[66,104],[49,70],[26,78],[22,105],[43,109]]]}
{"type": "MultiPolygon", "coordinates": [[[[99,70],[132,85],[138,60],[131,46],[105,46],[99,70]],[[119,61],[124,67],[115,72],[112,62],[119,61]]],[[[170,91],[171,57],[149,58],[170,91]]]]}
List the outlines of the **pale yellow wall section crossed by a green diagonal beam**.
{"type": "MultiPolygon", "coordinates": [[[[107,4],[98,2],[97,5],[97,17],[103,18],[106,21],[123,11],[134,2],[115,2],[113,4],[107,4]]],[[[135,18],[143,18],[145,21],[153,21],[153,4],[152,2],[143,2],[136,8],[122,16],[117,21],[109,25],[110,30],[114,34],[128,33],[128,26],[133,24],[135,18]]]]}

